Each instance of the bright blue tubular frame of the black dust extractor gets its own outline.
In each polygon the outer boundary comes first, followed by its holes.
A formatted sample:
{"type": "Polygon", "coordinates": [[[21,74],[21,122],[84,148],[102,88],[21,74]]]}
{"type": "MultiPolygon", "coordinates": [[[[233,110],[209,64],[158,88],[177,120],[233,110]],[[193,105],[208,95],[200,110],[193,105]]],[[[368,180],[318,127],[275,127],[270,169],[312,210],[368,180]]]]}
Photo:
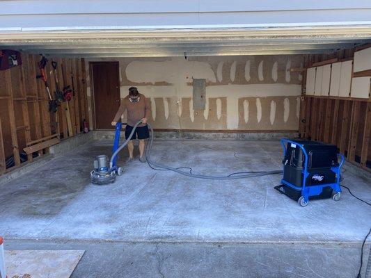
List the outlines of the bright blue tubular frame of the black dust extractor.
{"type": "Polygon", "coordinates": [[[341,193],[341,188],[340,188],[340,170],[342,167],[342,164],[344,163],[344,156],[342,154],[338,154],[340,156],[341,161],[338,167],[331,167],[331,171],[336,173],[336,182],[335,183],[326,183],[326,184],[321,184],[318,186],[306,186],[306,178],[309,175],[308,172],[308,154],[306,153],[306,149],[304,149],[303,145],[299,144],[298,142],[294,142],[292,140],[288,139],[281,139],[281,145],[283,147],[283,156],[286,155],[286,145],[285,143],[290,143],[293,145],[296,145],[297,147],[301,148],[303,151],[303,154],[305,156],[305,161],[304,161],[304,168],[301,170],[301,173],[303,174],[303,184],[301,187],[294,186],[292,183],[289,183],[288,181],[285,181],[284,179],[281,179],[281,183],[284,184],[285,186],[290,186],[290,188],[294,188],[296,190],[301,190],[301,196],[304,198],[304,202],[309,202],[309,197],[310,196],[317,196],[322,193],[322,189],[324,187],[330,186],[333,190],[335,190],[336,193],[341,193]]]}

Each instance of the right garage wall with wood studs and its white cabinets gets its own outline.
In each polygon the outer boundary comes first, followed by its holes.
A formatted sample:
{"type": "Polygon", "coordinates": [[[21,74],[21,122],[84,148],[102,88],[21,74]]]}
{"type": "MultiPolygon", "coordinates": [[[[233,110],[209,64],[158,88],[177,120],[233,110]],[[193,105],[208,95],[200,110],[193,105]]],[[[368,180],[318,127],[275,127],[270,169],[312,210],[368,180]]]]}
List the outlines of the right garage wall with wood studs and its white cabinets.
{"type": "Polygon", "coordinates": [[[352,49],[341,49],[329,55],[304,57],[304,67],[308,67],[308,72],[303,72],[303,101],[299,126],[299,134],[302,138],[336,145],[347,161],[369,172],[371,171],[371,66],[370,63],[363,65],[368,55],[361,59],[361,63],[358,58],[363,53],[367,54],[370,47],[370,44],[361,45],[352,49]],[[339,63],[341,67],[344,63],[349,63],[351,67],[349,75],[341,76],[340,80],[336,76],[339,63]],[[313,94],[313,85],[308,81],[311,78],[310,68],[328,65],[333,70],[330,88],[326,86],[325,94],[313,94]],[[332,80],[334,76],[336,82],[340,82],[340,90],[339,85],[332,80]],[[342,82],[345,79],[348,79],[347,83],[342,82]],[[354,82],[358,79],[367,79],[367,86],[354,90],[354,82]],[[336,90],[332,90],[332,87],[336,90]],[[341,94],[341,89],[346,94],[341,94]]]}

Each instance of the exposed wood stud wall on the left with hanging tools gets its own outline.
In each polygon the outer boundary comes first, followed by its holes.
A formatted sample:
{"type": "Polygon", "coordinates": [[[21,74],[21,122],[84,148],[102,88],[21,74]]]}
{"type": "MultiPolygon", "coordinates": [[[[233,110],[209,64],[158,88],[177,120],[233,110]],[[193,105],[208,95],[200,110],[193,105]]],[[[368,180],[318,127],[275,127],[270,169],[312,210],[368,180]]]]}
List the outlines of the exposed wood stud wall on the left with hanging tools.
{"type": "Polygon", "coordinates": [[[63,101],[57,113],[49,113],[48,96],[40,74],[41,56],[22,55],[22,65],[0,71],[0,174],[35,156],[47,154],[49,146],[81,133],[87,117],[85,62],[80,58],[50,58],[45,68],[50,92],[56,90],[52,60],[57,63],[60,90],[70,85],[71,101],[63,101]],[[67,109],[68,108],[68,109],[67,109]],[[68,131],[68,112],[71,129],[68,131]],[[13,167],[6,167],[13,164],[13,167]],[[14,161],[9,163],[9,161],[14,161]]]}

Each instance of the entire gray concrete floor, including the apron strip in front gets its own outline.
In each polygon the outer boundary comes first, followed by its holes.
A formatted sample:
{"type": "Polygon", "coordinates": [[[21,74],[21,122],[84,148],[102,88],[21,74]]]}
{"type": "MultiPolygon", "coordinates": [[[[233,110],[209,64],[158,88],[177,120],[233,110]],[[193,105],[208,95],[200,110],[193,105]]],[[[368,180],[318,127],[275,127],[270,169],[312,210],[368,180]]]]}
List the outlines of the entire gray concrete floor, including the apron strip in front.
{"type": "MultiPolygon", "coordinates": [[[[370,207],[302,208],[281,195],[281,177],[191,179],[135,161],[109,186],[89,172],[111,141],[93,141],[0,186],[6,249],[86,250],[72,277],[354,277],[370,207]]],[[[138,154],[136,149],[136,154],[138,154]]],[[[127,154],[123,152],[122,165],[127,154]]],[[[157,140],[153,159],[204,174],[281,169],[278,141],[157,140]]],[[[371,202],[370,180],[344,185],[371,202]]],[[[363,263],[367,265],[370,243],[363,263]]],[[[366,277],[366,268],[363,277],[366,277]]],[[[369,263],[369,268],[370,263],[369,263]]],[[[369,270],[370,271],[370,270],[369,270]]]]}

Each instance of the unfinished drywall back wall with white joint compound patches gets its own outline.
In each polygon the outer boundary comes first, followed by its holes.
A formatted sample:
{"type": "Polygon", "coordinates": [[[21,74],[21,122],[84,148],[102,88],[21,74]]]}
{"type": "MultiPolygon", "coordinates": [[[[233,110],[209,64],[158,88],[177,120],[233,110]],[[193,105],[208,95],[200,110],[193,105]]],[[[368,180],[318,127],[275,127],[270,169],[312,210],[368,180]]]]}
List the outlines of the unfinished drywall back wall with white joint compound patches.
{"type": "MultiPolygon", "coordinates": [[[[110,59],[94,59],[97,60],[110,59]]],[[[136,86],[139,92],[150,98],[150,122],[156,129],[298,129],[302,76],[290,72],[290,69],[301,67],[302,56],[117,60],[120,64],[121,97],[127,95],[130,86],[136,86]],[[193,108],[192,78],[206,80],[205,110],[193,108]]],[[[93,60],[86,60],[86,63],[89,61],[93,60]]],[[[88,80],[87,83],[91,82],[88,80]]],[[[88,87],[89,99],[90,95],[88,87]]]]}

